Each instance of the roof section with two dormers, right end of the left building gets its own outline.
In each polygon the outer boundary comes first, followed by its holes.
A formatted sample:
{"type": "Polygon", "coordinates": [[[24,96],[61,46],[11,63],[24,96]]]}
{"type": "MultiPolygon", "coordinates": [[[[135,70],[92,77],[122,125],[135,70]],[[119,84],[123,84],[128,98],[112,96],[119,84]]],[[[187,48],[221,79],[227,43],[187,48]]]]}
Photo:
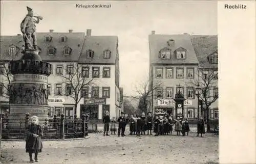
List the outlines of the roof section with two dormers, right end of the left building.
{"type": "Polygon", "coordinates": [[[88,36],[83,45],[83,50],[79,58],[80,63],[92,64],[115,64],[117,54],[117,36],[88,36]],[[93,58],[87,58],[87,50],[94,51],[93,58]],[[103,58],[104,50],[110,50],[110,59],[103,58]]]}

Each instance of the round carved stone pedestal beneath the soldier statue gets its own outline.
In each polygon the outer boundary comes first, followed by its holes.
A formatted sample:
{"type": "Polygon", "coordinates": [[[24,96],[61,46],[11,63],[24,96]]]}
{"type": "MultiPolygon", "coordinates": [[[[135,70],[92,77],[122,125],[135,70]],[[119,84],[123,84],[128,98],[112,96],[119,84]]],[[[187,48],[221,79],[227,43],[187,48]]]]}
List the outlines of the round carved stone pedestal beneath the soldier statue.
{"type": "MultiPolygon", "coordinates": [[[[27,50],[19,61],[11,61],[10,126],[16,128],[25,114],[48,119],[48,76],[51,64],[42,62],[38,51],[27,50]]],[[[22,121],[23,122],[23,121],[22,121]]],[[[25,124],[23,124],[24,126],[25,124]]]]}

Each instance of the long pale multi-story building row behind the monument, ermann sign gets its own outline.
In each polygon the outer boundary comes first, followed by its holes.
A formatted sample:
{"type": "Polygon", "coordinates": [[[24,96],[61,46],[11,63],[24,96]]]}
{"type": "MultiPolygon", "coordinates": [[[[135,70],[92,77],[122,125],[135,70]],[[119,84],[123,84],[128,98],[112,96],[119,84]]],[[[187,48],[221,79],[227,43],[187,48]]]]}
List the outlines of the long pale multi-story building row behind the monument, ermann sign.
{"type": "MultiPolygon", "coordinates": [[[[78,117],[89,114],[91,118],[102,119],[105,111],[111,117],[119,116],[119,54],[117,36],[92,36],[74,33],[37,33],[39,55],[43,61],[52,64],[52,72],[48,78],[49,84],[49,116],[78,117]],[[63,81],[63,76],[76,72],[92,83],[83,87],[82,98],[75,109],[75,100],[67,94],[70,85],[63,81]],[[76,110],[76,111],[75,111],[76,110]]],[[[1,61],[8,63],[11,57],[19,59],[22,56],[23,37],[1,37],[1,61]]],[[[8,99],[5,100],[8,103],[8,99]]]]}

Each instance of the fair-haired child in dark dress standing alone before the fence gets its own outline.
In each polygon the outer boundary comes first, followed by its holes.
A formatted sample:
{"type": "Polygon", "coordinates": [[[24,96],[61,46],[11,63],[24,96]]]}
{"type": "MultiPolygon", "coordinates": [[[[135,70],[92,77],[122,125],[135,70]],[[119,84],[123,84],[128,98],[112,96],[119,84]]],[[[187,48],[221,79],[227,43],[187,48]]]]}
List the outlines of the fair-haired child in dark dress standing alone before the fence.
{"type": "Polygon", "coordinates": [[[33,153],[35,153],[35,161],[38,162],[37,154],[42,151],[42,129],[38,124],[39,121],[37,116],[32,116],[30,120],[31,124],[27,127],[28,135],[26,140],[26,152],[29,153],[30,162],[34,162],[32,158],[33,153]]]}

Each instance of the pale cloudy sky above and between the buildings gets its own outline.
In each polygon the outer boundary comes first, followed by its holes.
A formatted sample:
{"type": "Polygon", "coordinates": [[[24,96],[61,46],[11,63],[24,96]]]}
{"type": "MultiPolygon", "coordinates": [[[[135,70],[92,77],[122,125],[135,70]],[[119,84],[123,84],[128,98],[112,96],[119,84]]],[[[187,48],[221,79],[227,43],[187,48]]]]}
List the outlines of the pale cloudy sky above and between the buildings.
{"type": "Polygon", "coordinates": [[[84,32],[118,36],[120,87],[135,95],[136,86],[148,77],[148,35],[217,35],[215,1],[1,1],[1,35],[20,34],[19,24],[27,6],[43,19],[37,32],[84,32]],[[110,8],[76,8],[111,5],[110,8]]]}

